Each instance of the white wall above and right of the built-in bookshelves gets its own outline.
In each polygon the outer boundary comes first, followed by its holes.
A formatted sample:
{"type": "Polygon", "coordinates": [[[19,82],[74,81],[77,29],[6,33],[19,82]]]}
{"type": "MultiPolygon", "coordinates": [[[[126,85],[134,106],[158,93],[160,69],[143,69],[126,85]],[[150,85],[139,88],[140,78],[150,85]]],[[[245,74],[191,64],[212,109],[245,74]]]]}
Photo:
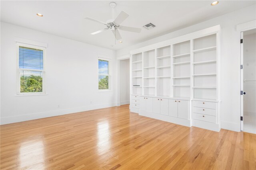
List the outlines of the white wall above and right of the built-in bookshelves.
{"type": "Polygon", "coordinates": [[[214,25],[221,25],[221,126],[223,129],[240,131],[240,32],[236,31],[236,25],[255,20],[255,9],[256,5],[254,4],[235,12],[118,50],[116,55],[127,55],[131,50],[140,47],[179,37],[214,25]]]}

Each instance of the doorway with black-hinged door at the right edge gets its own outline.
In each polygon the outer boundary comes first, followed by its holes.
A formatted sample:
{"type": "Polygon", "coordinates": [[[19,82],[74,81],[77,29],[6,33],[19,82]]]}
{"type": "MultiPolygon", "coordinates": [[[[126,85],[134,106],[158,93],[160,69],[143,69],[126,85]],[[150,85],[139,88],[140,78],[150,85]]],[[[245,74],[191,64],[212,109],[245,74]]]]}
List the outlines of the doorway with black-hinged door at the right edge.
{"type": "Polygon", "coordinates": [[[241,131],[256,134],[256,29],[241,32],[241,131]]]}

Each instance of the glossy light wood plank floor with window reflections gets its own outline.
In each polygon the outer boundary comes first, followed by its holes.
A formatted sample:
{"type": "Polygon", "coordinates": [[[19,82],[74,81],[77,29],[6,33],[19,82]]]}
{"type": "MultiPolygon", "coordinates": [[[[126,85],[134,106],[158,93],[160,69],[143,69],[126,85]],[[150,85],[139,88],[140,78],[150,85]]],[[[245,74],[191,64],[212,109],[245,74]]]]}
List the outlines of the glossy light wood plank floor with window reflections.
{"type": "Polygon", "coordinates": [[[1,170],[256,169],[256,135],[184,127],[128,105],[0,127],[1,170]]]}

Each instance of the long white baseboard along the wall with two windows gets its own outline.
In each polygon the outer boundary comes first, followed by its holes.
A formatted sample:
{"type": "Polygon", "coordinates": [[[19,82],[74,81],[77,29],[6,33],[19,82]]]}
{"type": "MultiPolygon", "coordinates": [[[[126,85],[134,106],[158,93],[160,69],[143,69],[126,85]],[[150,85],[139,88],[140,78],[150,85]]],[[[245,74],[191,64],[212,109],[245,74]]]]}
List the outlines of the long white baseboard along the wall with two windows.
{"type": "Polygon", "coordinates": [[[101,108],[114,107],[114,106],[116,106],[116,103],[75,107],[75,108],[70,108],[70,109],[58,109],[58,110],[45,111],[45,112],[40,112],[40,113],[32,113],[32,114],[28,114],[28,115],[1,117],[0,124],[4,125],[4,124],[9,124],[9,123],[41,119],[41,118],[45,118],[45,117],[52,117],[52,116],[58,116],[58,115],[66,115],[66,114],[70,114],[70,113],[77,113],[77,112],[81,112],[81,111],[88,111],[88,110],[101,109],[101,108]]]}

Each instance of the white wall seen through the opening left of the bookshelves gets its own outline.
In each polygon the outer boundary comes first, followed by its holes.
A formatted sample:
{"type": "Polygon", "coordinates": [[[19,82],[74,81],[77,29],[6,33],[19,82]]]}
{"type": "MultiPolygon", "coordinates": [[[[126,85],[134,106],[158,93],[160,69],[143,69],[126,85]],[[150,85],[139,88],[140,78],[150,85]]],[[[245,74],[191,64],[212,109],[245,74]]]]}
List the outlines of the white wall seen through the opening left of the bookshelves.
{"type": "Polygon", "coordinates": [[[130,59],[120,61],[120,104],[130,103],[130,59]]]}

